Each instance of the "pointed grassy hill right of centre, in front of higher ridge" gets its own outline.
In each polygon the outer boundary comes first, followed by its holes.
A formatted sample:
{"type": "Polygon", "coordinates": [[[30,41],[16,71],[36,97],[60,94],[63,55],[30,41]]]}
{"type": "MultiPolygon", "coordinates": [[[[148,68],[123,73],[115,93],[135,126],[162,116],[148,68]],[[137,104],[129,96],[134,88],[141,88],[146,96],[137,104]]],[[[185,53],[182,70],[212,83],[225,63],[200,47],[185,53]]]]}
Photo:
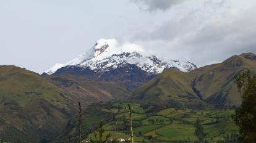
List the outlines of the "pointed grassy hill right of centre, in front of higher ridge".
{"type": "Polygon", "coordinates": [[[207,104],[194,93],[190,84],[193,73],[175,69],[165,70],[160,76],[143,84],[132,94],[137,102],[170,107],[203,108],[207,104]],[[142,101],[142,102],[141,102],[142,101]]]}

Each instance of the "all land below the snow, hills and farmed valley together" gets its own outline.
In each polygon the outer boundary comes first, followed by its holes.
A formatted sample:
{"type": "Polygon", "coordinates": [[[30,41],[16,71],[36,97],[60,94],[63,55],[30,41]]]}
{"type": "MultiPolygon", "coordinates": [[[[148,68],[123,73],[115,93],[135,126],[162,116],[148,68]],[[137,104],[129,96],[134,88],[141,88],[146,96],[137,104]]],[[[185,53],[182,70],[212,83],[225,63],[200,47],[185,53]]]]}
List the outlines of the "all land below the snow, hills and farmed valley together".
{"type": "Polygon", "coordinates": [[[163,73],[130,63],[98,72],[68,65],[51,75],[3,65],[0,138],[77,142],[81,102],[84,141],[93,139],[100,121],[112,139],[129,139],[128,103],[136,142],[222,141],[238,134],[231,119],[241,104],[234,78],[246,69],[255,71],[255,57],[244,53],[191,71],[169,68],[163,73]]]}

